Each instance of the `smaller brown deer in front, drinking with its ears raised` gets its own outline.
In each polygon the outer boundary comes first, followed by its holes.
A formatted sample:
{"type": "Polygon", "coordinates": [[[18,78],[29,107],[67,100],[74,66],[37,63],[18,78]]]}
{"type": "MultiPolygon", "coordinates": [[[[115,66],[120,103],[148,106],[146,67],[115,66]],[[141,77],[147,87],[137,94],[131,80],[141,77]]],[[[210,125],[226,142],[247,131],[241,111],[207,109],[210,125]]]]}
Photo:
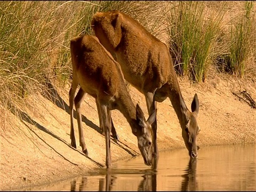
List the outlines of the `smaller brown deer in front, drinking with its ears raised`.
{"type": "Polygon", "coordinates": [[[70,41],[70,51],[73,67],[73,81],[69,90],[70,108],[70,139],[71,146],[76,148],[73,106],[78,113],[77,123],[79,143],[83,152],[88,155],[82,129],[81,105],[86,93],[95,98],[99,119],[106,140],[106,166],[111,167],[110,130],[111,110],[118,109],[132,128],[132,133],[138,139],[138,147],[146,165],[151,165],[153,158],[153,134],[151,124],[155,121],[156,110],[148,117],[145,116],[137,104],[134,106],[126,89],[123,73],[119,64],[111,54],[100,44],[97,37],[84,35],[70,41]],[[80,89],[75,97],[78,84],[80,89]]]}

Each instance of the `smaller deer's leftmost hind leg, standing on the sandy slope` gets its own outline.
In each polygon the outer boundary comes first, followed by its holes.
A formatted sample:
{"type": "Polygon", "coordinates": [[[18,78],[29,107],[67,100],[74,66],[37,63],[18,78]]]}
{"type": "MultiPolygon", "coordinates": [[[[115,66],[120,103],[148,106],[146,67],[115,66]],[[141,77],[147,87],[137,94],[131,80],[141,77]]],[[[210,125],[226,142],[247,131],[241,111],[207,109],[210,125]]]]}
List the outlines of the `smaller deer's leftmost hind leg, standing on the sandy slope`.
{"type": "Polygon", "coordinates": [[[70,111],[70,139],[71,139],[71,146],[76,148],[76,138],[75,138],[75,132],[74,132],[74,99],[75,99],[75,93],[78,86],[78,82],[76,81],[76,78],[73,78],[70,90],[69,90],[69,111],[70,111]]]}

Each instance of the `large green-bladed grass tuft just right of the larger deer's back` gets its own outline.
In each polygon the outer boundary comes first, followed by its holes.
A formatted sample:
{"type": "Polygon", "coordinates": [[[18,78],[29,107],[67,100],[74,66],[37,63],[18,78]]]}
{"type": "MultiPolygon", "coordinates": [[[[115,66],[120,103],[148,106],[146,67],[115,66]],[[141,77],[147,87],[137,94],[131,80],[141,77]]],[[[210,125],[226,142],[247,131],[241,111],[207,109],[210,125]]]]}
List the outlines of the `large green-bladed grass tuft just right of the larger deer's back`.
{"type": "Polygon", "coordinates": [[[167,19],[174,67],[194,82],[205,81],[223,15],[209,13],[204,2],[194,1],[173,2],[170,10],[167,19]]]}

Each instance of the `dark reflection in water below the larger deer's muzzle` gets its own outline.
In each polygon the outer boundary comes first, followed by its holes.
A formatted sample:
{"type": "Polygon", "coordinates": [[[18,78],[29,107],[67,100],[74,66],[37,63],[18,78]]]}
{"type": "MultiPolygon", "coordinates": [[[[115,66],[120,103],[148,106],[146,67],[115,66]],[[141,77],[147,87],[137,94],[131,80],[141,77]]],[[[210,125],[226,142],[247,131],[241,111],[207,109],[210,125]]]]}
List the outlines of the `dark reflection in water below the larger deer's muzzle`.
{"type": "Polygon", "coordinates": [[[186,174],[183,174],[182,177],[184,178],[181,182],[181,191],[196,191],[198,190],[198,183],[196,181],[196,164],[197,160],[190,158],[188,162],[188,166],[186,174]]]}

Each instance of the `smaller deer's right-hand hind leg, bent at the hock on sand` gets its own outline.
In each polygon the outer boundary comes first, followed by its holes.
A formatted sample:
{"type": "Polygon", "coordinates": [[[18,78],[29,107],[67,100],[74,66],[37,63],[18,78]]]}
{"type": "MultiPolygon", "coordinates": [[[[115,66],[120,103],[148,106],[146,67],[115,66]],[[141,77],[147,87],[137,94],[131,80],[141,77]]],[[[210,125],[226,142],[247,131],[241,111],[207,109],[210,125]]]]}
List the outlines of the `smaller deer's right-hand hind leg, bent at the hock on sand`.
{"type": "Polygon", "coordinates": [[[88,151],[84,142],[84,134],[83,134],[83,127],[82,127],[82,114],[81,114],[81,106],[84,100],[84,96],[86,93],[80,88],[76,97],[75,97],[75,107],[77,112],[77,124],[78,124],[78,131],[79,131],[79,142],[80,146],[82,147],[83,153],[87,156],[88,151]]]}

